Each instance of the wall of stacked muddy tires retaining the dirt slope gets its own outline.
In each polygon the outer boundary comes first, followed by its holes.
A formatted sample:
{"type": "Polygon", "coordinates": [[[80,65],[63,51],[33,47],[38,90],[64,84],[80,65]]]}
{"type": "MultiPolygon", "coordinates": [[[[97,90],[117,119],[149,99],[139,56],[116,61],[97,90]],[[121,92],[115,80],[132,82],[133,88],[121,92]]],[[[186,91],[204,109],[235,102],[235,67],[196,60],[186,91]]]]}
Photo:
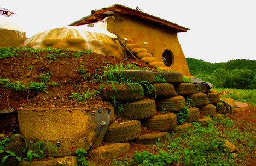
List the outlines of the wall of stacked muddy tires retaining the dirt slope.
{"type": "Polygon", "coordinates": [[[150,82],[154,89],[149,90],[143,88],[143,86],[139,87],[125,83],[102,85],[102,99],[106,101],[110,101],[110,99],[113,101],[114,99],[115,103],[118,103],[118,106],[115,106],[115,114],[119,114],[128,120],[120,123],[115,121],[110,124],[106,131],[106,137],[103,138],[106,142],[120,143],[133,140],[137,143],[150,143],[154,142],[152,140],[159,136],[164,137],[166,133],[175,131],[174,129],[177,127],[183,128],[177,124],[175,113],[186,106],[186,102],[190,103],[190,114],[185,124],[183,124],[184,128],[191,127],[189,124],[191,122],[200,122],[200,118],[216,115],[216,104],[220,101],[219,94],[210,91],[203,85],[183,82],[183,75],[180,72],[118,71],[116,76],[120,73],[131,74],[132,81],[136,83],[150,82]],[[166,82],[153,82],[153,77],[162,77],[166,82]],[[115,85],[117,87],[113,87],[115,85]],[[110,93],[108,92],[109,89],[111,89],[110,93]],[[123,89],[126,89],[127,92],[122,91],[123,89]],[[117,129],[119,126],[120,129],[117,129]],[[139,126],[156,132],[151,135],[141,134],[139,126]],[[122,132],[114,133],[113,128],[122,132]],[[125,128],[128,131],[125,131],[125,128]],[[132,137],[127,137],[124,132],[130,132],[132,137]],[[115,136],[115,134],[118,136],[115,136]],[[123,136],[121,136],[122,134],[123,136]],[[125,139],[115,139],[119,136],[125,137],[125,139]]]}

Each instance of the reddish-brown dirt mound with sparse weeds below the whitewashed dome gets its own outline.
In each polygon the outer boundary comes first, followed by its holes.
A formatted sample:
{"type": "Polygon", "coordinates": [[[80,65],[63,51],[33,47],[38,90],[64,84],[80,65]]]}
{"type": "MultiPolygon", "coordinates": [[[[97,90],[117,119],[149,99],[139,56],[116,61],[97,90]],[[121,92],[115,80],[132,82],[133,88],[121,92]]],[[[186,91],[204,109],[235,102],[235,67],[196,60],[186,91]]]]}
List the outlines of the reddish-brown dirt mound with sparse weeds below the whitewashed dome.
{"type": "MultiPolygon", "coordinates": [[[[96,94],[85,101],[78,101],[70,97],[75,93],[83,94],[89,90],[98,90],[100,76],[104,66],[122,63],[130,64],[135,60],[127,60],[104,56],[97,53],[83,53],[78,56],[75,51],[41,51],[29,53],[21,51],[19,56],[0,59],[1,79],[10,79],[10,83],[30,84],[31,82],[45,82],[45,91],[13,91],[0,88],[0,110],[2,112],[23,108],[91,108],[105,107],[109,103],[103,101],[96,94]],[[60,56],[62,55],[62,56],[60,56]]],[[[139,61],[141,67],[153,67],[139,61]]],[[[1,114],[1,117],[7,115],[1,114]]],[[[0,132],[11,134],[17,125],[16,115],[11,114],[1,120],[0,132]]],[[[2,118],[1,118],[2,119],[2,118]]]]}

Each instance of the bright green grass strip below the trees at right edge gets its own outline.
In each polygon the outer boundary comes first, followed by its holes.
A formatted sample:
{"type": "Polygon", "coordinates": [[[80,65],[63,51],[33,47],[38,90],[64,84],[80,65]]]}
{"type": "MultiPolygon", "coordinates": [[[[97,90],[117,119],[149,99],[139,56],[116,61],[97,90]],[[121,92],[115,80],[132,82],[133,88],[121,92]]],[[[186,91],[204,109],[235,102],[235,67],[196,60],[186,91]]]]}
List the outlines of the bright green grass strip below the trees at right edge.
{"type": "Polygon", "coordinates": [[[237,102],[246,102],[256,106],[256,89],[214,88],[214,90],[217,90],[218,93],[226,91],[225,95],[221,95],[222,98],[232,98],[237,102]]]}

